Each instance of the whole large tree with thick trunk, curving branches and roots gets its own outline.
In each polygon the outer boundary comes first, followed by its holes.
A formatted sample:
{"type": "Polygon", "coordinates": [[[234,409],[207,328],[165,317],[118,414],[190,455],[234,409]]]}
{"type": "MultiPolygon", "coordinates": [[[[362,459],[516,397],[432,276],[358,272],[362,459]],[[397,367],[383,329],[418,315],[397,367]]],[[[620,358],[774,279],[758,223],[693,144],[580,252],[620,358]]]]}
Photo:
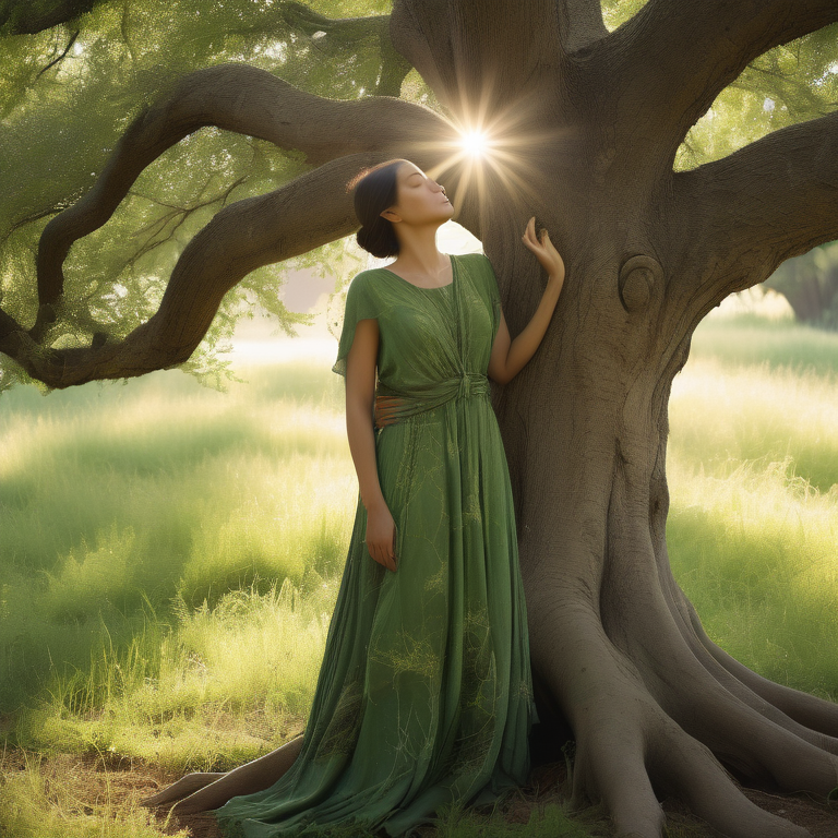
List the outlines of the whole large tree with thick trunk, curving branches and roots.
{"type": "MultiPolygon", "coordinates": [[[[137,116],[121,113],[121,137],[112,149],[97,148],[103,166],[92,184],[62,170],[58,187],[40,184],[49,193],[40,203],[31,180],[28,197],[23,187],[4,193],[17,202],[4,244],[17,256],[19,284],[27,251],[12,247],[15,236],[49,220],[38,230],[37,299],[26,289],[11,306],[3,299],[0,350],[48,387],[184,364],[225,296],[252,272],[351,234],[344,184],[361,166],[393,156],[444,179],[456,219],[484,243],[515,334],[542,287],[519,242],[536,214],[564,258],[566,287],[539,351],[494,392],[494,406],[515,490],[542,721],[556,731],[570,723],[575,791],[604,801],[621,835],[659,836],[662,793],[682,795],[730,836],[804,835],[750,803],[731,774],[826,795],[838,785],[838,706],[761,678],[704,632],[667,555],[667,411],[702,319],[785,260],[838,238],[838,112],[790,119],[692,168],[675,164],[691,129],[746,70],[756,69],[752,83],[756,71],[771,76],[775,101],[783,91],[798,100],[781,45],[805,40],[799,53],[813,50],[831,84],[838,3],[648,0],[612,29],[599,0],[394,0],[388,16],[359,19],[296,3],[237,3],[261,7],[259,23],[240,15],[242,60],[208,61],[171,84],[171,73],[146,76],[154,96],[137,116]],[[282,29],[291,52],[301,44],[331,50],[338,67],[347,56],[372,56],[359,70],[366,92],[330,98],[328,85],[346,84],[340,73],[307,81],[294,61],[277,69],[283,79],[254,67],[259,26],[282,29]],[[767,55],[774,63],[761,64],[767,55]],[[397,98],[411,68],[431,107],[418,96],[397,98]],[[230,181],[212,200],[201,203],[199,190],[176,206],[183,222],[225,204],[178,252],[161,298],[151,295],[152,315],[121,330],[112,315],[121,298],[101,262],[89,285],[76,262],[70,292],[71,249],[127,195],[136,199],[134,184],[161,155],[205,127],[230,132],[213,134],[216,152],[240,135],[254,160],[265,159],[270,144],[296,156],[282,158],[285,169],[254,163],[262,180],[251,177],[247,197],[228,203],[239,185],[230,181]],[[456,152],[460,131],[475,129],[492,142],[481,164],[456,152]],[[283,176],[278,189],[259,191],[283,176]],[[75,346],[61,345],[68,335],[75,346]]],[[[129,48],[131,26],[142,25],[127,2],[37,5],[48,25],[69,22],[52,46],[56,67],[72,56],[80,9],[122,14],[129,48]]],[[[12,10],[3,11],[7,32],[38,31],[37,15],[15,16],[14,7],[0,8],[12,10]]],[[[31,131],[36,106],[21,91],[55,69],[24,70],[16,98],[10,94],[3,107],[29,107],[19,122],[31,131]]],[[[48,146],[53,136],[39,142],[48,146]]],[[[166,176],[196,178],[194,168],[166,176]]],[[[140,264],[141,251],[127,249],[119,271],[140,264]]]]}

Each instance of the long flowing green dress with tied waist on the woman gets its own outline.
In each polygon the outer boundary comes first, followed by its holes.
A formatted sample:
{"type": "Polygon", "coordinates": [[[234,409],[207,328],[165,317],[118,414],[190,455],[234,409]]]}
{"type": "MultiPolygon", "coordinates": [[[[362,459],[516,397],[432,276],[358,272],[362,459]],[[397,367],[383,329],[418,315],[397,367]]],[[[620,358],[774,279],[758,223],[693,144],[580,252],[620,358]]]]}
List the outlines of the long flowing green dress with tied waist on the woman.
{"type": "Polygon", "coordinates": [[[396,524],[395,573],[349,551],[302,750],[271,788],[215,810],[229,838],[407,836],[450,802],[527,780],[532,699],[512,488],[486,376],[500,324],[489,260],[452,255],[419,288],[358,274],[334,372],[379,321],[375,450],[396,524]]]}

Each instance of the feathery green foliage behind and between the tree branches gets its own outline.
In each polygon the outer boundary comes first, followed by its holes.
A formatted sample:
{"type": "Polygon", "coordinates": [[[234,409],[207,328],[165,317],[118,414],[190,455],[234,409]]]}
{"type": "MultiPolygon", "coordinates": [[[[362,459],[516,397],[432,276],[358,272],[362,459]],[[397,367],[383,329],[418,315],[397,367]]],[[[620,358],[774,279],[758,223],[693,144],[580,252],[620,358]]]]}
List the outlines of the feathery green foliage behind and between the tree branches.
{"type": "MultiPolygon", "coordinates": [[[[643,4],[606,0],[607,25],[615,28],[643,4]]],[[[311,93],[352,99],[376,93],[407,70],[387,65],[396,59],[382,38],[381,20],[366,20],[388,14],[388,0],[92,5],[36,35],[0,36],[0,306],[25,326],[37,310],[34,255],[45,225],[92,188],[125,128],[179,76],[244,62],[311,93]]],[[[675,168],[717,159],[829,110],[838,99],[836,31],[824,28],[756,59],[691,129],[675,168]]],[[[404,77],[400,95],[441,110],[416,71],[404,77]]],[[[214,129],[185,137],[143,172],[101,229],[73,247],[55,345],[87,346],[97,331],[117,338],[128,334],[156,310],[185,243],[219,208],[276,189],[309,168],[297,152],[253,137],[214,129]]],[[[287,311],[277,291],[287,272],[303,261],[336,280],[348,278],[354,267],[344,260],[343,243],[335,242],[304,260],[254,272],[225,297],[182,369],[224,388],[232,373],[216,349],[224,348],[248,306],[263,307],[292,333],[306,315],[287,311]]],[[[0,356],[0,393],[21,382],[28,376],[0,356]]]]}

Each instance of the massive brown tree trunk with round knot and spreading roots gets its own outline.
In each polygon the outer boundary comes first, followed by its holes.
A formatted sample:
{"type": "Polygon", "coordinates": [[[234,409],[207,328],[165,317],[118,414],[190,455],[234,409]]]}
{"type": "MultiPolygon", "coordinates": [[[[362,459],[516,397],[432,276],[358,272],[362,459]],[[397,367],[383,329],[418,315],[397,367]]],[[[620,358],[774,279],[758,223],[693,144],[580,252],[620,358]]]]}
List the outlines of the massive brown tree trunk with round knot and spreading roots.
{"type": "MultiPolygon", "coordinates": [[[[828,794],[838,785],[838,707],[770,684],[704,633],[667,553],[667,411],[702,318],[794,248],[811,247],[819,226],[834,237],[826,214],[835,213],[835,191],[782,241],[779,216],[759,212],[766,170],[782,181],[778,148],[764,143],[768,151],[751,166],[745,157],[731,171],[727,160],[704,167],[704,178],[672,171],[683,132],[727,83],[713,77],[710,57],[692,75],[684,68],[698,48],[711,46],[718,59],[726,48],[719,27],[746,29],[745,12],[728,8],[728,20],[714,24],[696,13],[709,8],[695,4],[673,22],[656,20],[670,4],[650,2],[632,22],[632,55],[627,34],[622,44],[611,36],[590,46],[598,27],[578,12],[591,5],[559,3],[565,28],[539,2],[512,27],[508,17],[492,17],[496,9],[465,0],[440,3],[433,19],[408,0],[394,12],[396,46],[441,101],[459,101],[467,124],[475,115],[457,99],[463,89],[482,92],[467,100],[490,103],[482,124],[505,154],[488,161],[488,197],[472,231],[495,266],[513,335],[542,289],[519,242],[528,216],[551,230],[567,266],[548,335],[494,399],[515,493],[539,713],[556,730],[570,725],[574,792],[602,800],[620,835],[660,835],[660,794],[684,798],[727,835],[804,835],[747,801],[729,771],[828,794]],[[530,61],[520,61],[508,45],[534,19],[539,40],[526,51],[530,61]],[[646,51],[656,24],[660,37],[674,23],[685,55],[646,51]],[[444,51],[436,47],[443,31],[444,51]],[[517,60],[499,69],[510,51],[517,60]],[[728,193],[740,194],[743,216],[732,228],[720,220],[731,213],[728,193]],[[745,236],[744,222],[762,226],[745,236]]],[[[770,37],[768,20],[759,25],[770,37]]],[[[794,128],[788,142],[802,156],[817,140],[794,128]]]]}

